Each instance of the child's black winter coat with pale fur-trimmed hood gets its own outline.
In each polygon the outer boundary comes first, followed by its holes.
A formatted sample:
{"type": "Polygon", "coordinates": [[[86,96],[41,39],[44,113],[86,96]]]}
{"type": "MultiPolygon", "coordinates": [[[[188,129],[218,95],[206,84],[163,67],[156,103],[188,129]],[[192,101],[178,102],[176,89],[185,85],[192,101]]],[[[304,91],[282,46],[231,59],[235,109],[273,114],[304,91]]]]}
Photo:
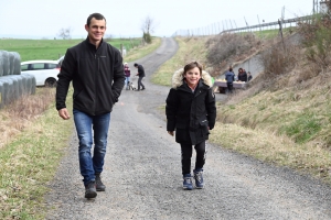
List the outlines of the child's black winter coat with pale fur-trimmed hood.
{"type": "Polygon", "coordinates": [[[183,78],[183,69],[172,76],[172,88],[166,100],[167,131],[175,131],[178,143],[195,145],[207,140],[209,130],[215,125],[215,95],[206,72],[202,72],[194,92],[183,78]]]}

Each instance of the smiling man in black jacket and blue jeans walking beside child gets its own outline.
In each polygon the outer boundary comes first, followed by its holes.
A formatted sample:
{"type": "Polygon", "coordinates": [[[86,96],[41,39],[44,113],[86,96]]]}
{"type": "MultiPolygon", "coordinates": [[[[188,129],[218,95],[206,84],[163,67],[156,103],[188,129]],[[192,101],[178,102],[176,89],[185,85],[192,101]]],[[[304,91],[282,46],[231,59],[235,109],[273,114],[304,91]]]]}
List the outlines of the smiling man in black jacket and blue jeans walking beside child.
{"type": "Polygon", "coordinates": [[[104,15],[90,14],[85,30],[87,38],[66,51],[58,74],[56,109],[62,119],[71,118],[65,99],[68,86],[73,81],[73,116],[79,139],[79,169],[84,177],[85,198],[95,198],[96,191],[106,189],[100,174],[106,154],[110,112],[120,96],[125,75],[120,52],[103,40],[106,31],[104,15]]]}

